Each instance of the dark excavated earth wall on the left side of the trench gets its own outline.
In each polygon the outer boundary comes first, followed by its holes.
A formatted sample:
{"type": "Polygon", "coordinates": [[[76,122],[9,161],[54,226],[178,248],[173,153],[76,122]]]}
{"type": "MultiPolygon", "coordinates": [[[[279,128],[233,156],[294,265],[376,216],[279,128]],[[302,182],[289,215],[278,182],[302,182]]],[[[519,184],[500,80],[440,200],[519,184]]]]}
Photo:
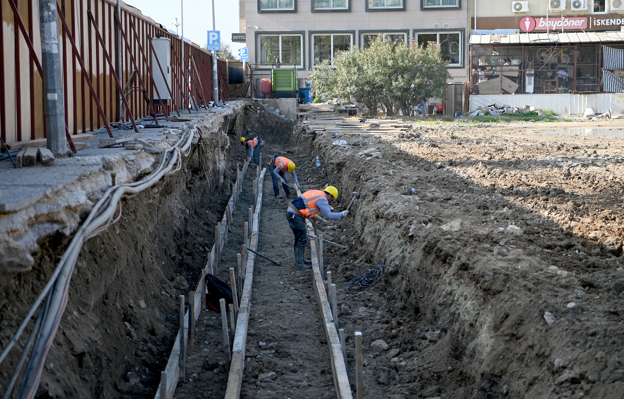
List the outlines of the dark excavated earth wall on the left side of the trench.
{"type": "MultiPolygon", "coordinates": [[[[154,397],[178,329],[178,295],[188,296],[198,280],[215,223],[232,194],[236,164],[244,158],[238,137],[283,140],[292,131],[291,122],[257,103],[249,105],[230,121],[227,132],[223,123],[200,124],[203,152],[196,139],[181,170],[122,200],[119,222],[87,240],[38,398],[154,397]],[[205,157],[207,177],[200,157],[205,157]]],[[[90,197],[92,203],[98,195],[90,197]]],[[[49,215],[53,222],[55,217],[62,220],[62,209],[49,215]]],[[[0,278],[0,347],[16,331],[71,239],[61,233],[47,237],[37,243],[32,270],[0,278]]],[[[2,363],[2,392],[20,352],[12,350],[2,363]]]]}

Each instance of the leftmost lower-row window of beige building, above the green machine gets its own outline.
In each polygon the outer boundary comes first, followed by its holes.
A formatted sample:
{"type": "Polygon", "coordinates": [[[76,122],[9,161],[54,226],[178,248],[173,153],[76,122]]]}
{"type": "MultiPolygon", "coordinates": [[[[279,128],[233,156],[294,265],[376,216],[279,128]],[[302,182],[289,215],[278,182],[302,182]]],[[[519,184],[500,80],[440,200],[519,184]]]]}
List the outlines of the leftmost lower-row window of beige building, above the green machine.
{"type": "Polygon", "coordinates": [[[303,35],[258,35],[258,62],[260,64],[295,64],[303,68],[303,35]]]}

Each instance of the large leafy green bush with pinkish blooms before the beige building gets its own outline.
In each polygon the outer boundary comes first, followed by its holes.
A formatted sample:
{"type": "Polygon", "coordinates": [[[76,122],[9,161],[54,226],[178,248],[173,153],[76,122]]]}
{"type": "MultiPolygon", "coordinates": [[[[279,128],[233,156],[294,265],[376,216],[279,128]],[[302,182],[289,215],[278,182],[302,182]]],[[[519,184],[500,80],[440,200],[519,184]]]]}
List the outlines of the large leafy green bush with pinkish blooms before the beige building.
{"type": "Polygon", "coordinates": [[[393,116],[412,116],[417,104],[429,97],[442,98],[450,75],[437,43],[418,46],[412,41],[373,39],[363,51],[341,52],[333,66],[323,62],[310,72],[316,96],[354,98],[376,115],[377,109],[393,116]]]}

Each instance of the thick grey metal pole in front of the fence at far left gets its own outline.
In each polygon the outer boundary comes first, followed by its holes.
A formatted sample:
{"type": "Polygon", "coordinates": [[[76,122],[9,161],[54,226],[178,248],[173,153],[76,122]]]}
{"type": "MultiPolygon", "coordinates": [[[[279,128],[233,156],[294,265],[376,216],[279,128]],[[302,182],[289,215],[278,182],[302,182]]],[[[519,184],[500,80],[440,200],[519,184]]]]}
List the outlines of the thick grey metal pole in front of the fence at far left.
{"type": "Polygon", "coordinates": [[[41,64],[43,67],[43,111],[47,129],[46,145],[52,154],[65,155],[67,152],[65,101],[61,55],[59,54],[59,22],[56,0],[41,0],[39,2],[39,24],[41,27],[41,64]]]}

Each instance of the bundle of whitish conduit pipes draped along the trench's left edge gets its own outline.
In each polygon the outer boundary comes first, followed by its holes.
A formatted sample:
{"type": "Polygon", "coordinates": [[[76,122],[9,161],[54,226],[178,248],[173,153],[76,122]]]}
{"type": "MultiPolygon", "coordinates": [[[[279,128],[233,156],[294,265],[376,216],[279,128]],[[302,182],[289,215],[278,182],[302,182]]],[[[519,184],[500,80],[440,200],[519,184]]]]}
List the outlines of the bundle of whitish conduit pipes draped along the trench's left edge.
{"type": "MultiPolygon", "coordinates": [[[[102,199],[100,199],[97,204],[95,204],[94,208],[89,213],[89,216],[87,217],[85,222],[77,230],[76,235],[74,235],[74,238],[67,247],[67,250],[63,254],[63,257],[61,258],[59,265],[57,265],[56,270],[54,270],[54,273],[52,273],[52,277],[46,284],[46,287],[44,287],[42,292],[39,294],[39,297],[37,297],[37,299],[33,303],[31,309],[27,313],[21,325],[19,326],[19,328],[17,328],[17,332],[15,333],[14,337],[11,339],[11,341],[9,341],[6,348],[4,348],[4,350],[0,354],[0,363],[2,363],[2,361],[4,361],[4,359],[7,357],[8,353],[11,351],[11,348],[14,347],[14,345],[16,344],[22,332],[24,332],[24,328],[26,328],[26,325],[32,318],[32,315],[34,315],[37,308],[39,308],[39,305],[41,305],[41,302],[46,297],[46,295],[50,293],[49,302],[47,303],[46,308],[44,308],[41,313],[39,313],[39,318],[42,319],[42,322],[39,323],[38,319],[36,323],[36,326],[39,325],[37,341],[35,343],[34,349],[32,350],[31,358],[27,365],[25,377],[22,381],[22,385],[17,396],[18,398],[34,397],[37,387],[39,386],[39,381],[41,379],[41,372],[46,359],[47,350],[49,349],[52,340],[56,335],[56,330],[59,326],[59,323],[61,322],[62,313],[64,312],[64,308],[67,305],[69,283],[71,281],[71,276],[74,272],[74,268],[76,267],[76,261],[78,259],[80,250],[82,249],[82,245],[84,244],[84,242],[89,239],[97,229],[109,223],[109,221],[115,214],[115,210],[117,209],[117,203],[120,202],[123,195],[138,194],[139,192],[154,185],[165,174],[171,172],[173,167],[181,162],[180,157],[182,155],[187,156],[190,152],[190,146],[192,144],[193,136],[194,134],[192,134],[192,132],[187,132],[186,134],[182,135],[180,140],[178,140],[175,145],[164,150],[162,155],[163,161],[160,162],[154,172],[145,177],[145,179],[140,180],[139,182],[117,184],[113,187],[110,187],[110,189],[107,190],[102,199]],[[167,157],[169,158],[167,159],[167,157]],[[101,212],[100,209],[102,210],[101,212]],[[53,290],[52,287],[54,287],[53,290]]],[[[178,169],[179,165],[178,168],[175,170],[178,169]]],[[[173,171],[175,172],[175,170],[173,171]]]]}

